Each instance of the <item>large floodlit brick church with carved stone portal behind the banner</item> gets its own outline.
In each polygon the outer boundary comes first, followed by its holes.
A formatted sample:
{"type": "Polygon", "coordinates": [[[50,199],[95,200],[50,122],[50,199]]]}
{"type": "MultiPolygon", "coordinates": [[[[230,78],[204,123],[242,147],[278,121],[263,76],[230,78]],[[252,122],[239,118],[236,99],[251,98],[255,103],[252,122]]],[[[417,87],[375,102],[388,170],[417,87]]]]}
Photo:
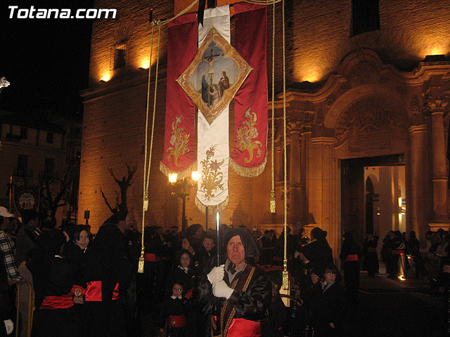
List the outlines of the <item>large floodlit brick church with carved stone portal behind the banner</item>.
{"type": "MultiPolygon", "coordinates": [[[[138,167],[128,204],[134,218],[141,219],[149,65],[150,87],[153,93],[158,85],[158,98],[146,225],[181,224],[181,202],[158,168],[165,100],[176,99],[165,97],[167,30],[162,27],[160,34],[155,83],[158,53],[154,49],[150,60],[148,19],[150,8],[153,18],[170,18],[188,4],[188,0],[96,2],[98,8],[117,8],[118,18],[94,22],[89,88],[82,92],[79,210],[90,211],[94,231],[110,216],[101,191],[110,196],[118,191],[108,170],[125,176],[126,164],[138,167]]],[[[271,6],[268,11],[271,32],[271,6]]],[[[278,233],[283,225],[284,169],[281,33],[277,4],[276,214],[269,211],[270,157],[257,178],[230,171],[230,201],[221,213],[221,223],[260,230],[274,227],[278,233]]],[[[449,227],[449,7],[439,0],[288,0],[285,33],[289,223],[327,230],[333,251],[339,251],[345,230],[353,230],[359,242],[369,232],[384,236],[390,229],[416,230],[424,242],[429,228],[449,227]]],[[[153,34],[157,41],[158,29],[153,34]]],[[[271,41],[269,34],[268,60],[271,41]]],[[[268,68],[270,73],[270,61],[268,68]]],[[[233,109],[230,113],[233,120],[233,109]]],[[[230,136],[232,131],[233,127],[230,136]]],[[[193,188],[186,199],[188,224],[205,227],[194,192],[193,188]]],[[[208,220],[214,223],[212,214],[208,220]]]]}

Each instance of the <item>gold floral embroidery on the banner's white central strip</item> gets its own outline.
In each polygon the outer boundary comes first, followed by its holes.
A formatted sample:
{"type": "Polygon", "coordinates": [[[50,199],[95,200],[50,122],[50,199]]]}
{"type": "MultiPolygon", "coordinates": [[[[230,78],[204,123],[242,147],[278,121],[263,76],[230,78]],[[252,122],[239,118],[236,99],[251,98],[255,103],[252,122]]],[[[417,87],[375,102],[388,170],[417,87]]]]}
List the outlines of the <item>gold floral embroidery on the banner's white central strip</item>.
{"type": "Polygon", "coordinates": [[[202,185],[200,185],[200,191],[205,192],[205,197],[208,200],[215,196],[215,192],[224,190],[224,184],[222,183],[224,173],[219,170],[225,159],[220,162],[217,159],[211,160],[214,157],[215,148],[216,145],[212,145],[210,150],[206,151],[206,159],[200,163],[202,164],[202,185]]]}

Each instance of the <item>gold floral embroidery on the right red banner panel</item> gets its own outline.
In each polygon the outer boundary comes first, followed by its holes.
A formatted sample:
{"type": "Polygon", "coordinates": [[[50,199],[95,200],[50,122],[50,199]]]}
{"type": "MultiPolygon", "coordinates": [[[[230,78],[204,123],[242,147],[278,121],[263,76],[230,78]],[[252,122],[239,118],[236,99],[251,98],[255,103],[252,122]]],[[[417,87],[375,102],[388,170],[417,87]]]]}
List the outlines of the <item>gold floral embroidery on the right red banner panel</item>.
{"type": "Polygon", "coordinates": [[[258,129],[256,128],[257,116],[255,112],[250,112],[250,108],[245,112],[246,121],[243,126],[238,129],[238,149],[240,151],[247,151],[248,158],[244,158],[246,163],[250,163],[253,159],[253,150],[257,150],[256,157],[262,154],[260,146],[262,143],[255,140],[258,137],[258,129]]]}

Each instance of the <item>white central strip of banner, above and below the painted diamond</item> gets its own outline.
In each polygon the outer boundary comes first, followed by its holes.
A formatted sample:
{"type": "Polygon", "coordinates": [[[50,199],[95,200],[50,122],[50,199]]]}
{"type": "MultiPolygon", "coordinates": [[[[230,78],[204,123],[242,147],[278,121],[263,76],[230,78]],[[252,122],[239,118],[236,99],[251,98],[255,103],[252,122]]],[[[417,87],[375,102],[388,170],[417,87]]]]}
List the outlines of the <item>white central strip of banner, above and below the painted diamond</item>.
{"type": "MultiPolygon", "coordinates": [[[[198,46],[201,46],[212,27],[231,43],[229,5],[205,10],[203,26],[198,27],[198,46]]],[[[221,210],[228,203],[229,157],[229,105],[226,105],[212,124],[199,111],[196,204],[200,211],[205,212],[205,206],[219,206],[221,210]]]]}

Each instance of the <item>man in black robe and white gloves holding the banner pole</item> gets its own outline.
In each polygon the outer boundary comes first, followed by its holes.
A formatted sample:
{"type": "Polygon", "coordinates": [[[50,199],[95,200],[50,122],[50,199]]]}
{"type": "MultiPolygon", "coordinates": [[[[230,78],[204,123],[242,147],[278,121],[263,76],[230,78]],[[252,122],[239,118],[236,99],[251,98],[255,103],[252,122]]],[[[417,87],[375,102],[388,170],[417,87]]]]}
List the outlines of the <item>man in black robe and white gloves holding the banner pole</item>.
{"type": "Polygon", "coordinates": [[[201,279],[194,293],[198,308],[212,315],[213,336],[261,336],[260,322],[271,305],[271,282],[262,270],[248,264],[259,253],[245,228],[224,234],[226,262],[201,279]]]}

